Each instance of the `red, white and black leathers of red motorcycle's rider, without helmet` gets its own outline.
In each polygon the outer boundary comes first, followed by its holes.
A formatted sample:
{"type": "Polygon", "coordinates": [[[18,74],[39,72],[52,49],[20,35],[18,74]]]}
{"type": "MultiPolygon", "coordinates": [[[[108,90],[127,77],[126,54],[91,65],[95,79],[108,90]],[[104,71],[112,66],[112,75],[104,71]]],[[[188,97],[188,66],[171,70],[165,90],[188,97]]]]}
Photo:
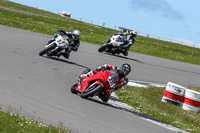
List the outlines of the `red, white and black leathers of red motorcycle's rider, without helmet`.
{"type": "MultiPolygon", "coordinates": [[[[97,69],[94,69],[93,71],[91,71],[90,69],[87,69],[88,72],[86,73],[84,71],[84,74],[82,74],[79,77],[79,82],[86,76],[95,74],[98,71],[105,71],[105,70],[117,72],[118,80],[115,82],[115,87],[113,87],[114,91],[121,89],[123,86],[125,86],[128,83],[128,78],[123,74],[123,72],[121,72],[121,70],[117,66],[112,66],[112,65],[108,65],[108,64],[99,66],[97,69]]],[[[99,97],[101,98],[102,101],[107,102],[109,100],[112,92],[113,91],[107,90],[105,93],[99,95],[99,97]]]]}

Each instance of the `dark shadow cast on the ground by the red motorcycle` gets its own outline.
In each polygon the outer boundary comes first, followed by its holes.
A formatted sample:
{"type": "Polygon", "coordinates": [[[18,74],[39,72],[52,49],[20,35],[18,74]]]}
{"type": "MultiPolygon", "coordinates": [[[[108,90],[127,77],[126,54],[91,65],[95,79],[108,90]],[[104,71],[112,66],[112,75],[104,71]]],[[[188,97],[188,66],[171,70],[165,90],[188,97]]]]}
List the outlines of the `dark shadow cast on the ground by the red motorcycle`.
{"type": "MultiPolygon", "coordinates": [[[[120,101],[119,99],[117,99],[117,98],[115,98],[115,97],[112,97],[112,96],[110,97],[110,99],[113,100],[113,101],[118,101],[118,102],[120,101]]],[[[152,121],[156,121],[156,122],[162,123],[160,120],[155,119],[155,118],[153,118],[153,117],[151,117],[151,116],[148,116],[147,114],[142,113],[142,112],[140,112],[140,111],[138,111],[138,110],[131,110],[131,109],[123,108],[123,107],[117,107],[117,106],[114,106],[114,105],[112,105],[112,104],[110,104],[110,103],[102,102],[100,99],[98,100],[98,99],[88,98],[88,99],[85,99],[85,100],[89,100],[89,101],[92,101],[92,102],[96,102],[96,103],[98,103],[98,104],[102,104],[102,105],[105,105],[105,106],[109,106],[109,107],[112,107],[112,108],[115,108],[115,109],[123,110],[123,111],[128,112],[128,113],[131,113],[131,114],[133,114],[133,115],[136,115],[136,116],[139,116],[139,117],[142,117],[142,118],[145,118],[145,119],[149,119],[149,120],[152,120],[152,121]]]]}

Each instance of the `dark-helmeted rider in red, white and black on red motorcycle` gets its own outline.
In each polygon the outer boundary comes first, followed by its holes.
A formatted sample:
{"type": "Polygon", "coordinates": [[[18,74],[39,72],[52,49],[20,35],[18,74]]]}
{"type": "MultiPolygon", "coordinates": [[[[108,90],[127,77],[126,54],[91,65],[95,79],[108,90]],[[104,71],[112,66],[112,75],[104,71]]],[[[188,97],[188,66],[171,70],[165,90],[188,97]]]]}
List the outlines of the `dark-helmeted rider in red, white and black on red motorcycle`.
{"type": "MultiPolygon", "coordinates": [[[[114,91],[117,91],[119,89],[121,89],[123,86],[125,86],[128,83],[128,78],[127,75],[131,72],[131,66],[128,63],[124,63],[122,64],[122,66],[120,68],[118,68],[117,66],[112,66],[112,65],[102,65],[99,66],[98,68],[94,69],[93,71],[91,71],[91,69],[87,69],[85,72],[85,74],[82,74],[79,78],[79,82],[81,79],[85,78],[86,76],[92,75],[97,73],[98,71],[105,71],[105,70],[109,70],[109,71],[116,71],[117,72],[117,82],[115,82],[116,86],[114,91]]],[[[104,102],[107,102],[110,98],[112,92],[107,91],[104,94],[102,94],[101,96],[101,100],[104,102]]]]}

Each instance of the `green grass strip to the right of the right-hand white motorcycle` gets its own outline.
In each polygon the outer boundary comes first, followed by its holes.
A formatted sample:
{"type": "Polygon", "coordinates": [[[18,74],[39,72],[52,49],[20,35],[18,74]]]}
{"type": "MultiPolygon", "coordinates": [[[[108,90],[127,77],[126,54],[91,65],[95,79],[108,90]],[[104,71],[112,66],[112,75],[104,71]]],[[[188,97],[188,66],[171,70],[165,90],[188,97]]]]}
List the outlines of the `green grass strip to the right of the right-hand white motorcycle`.
{"type": "Polygon", "coordinates": [[[137,37],[131,51],[200,65],[200,49],[145,37],[137,37]]]}

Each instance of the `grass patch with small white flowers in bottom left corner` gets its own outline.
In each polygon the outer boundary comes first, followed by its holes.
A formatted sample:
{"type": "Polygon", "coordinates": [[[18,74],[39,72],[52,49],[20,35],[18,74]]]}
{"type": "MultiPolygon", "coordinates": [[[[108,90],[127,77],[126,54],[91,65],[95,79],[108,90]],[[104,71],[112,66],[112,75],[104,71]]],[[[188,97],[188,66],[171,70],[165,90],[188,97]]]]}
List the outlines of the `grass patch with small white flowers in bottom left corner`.
{"type": "Polygon", "coordinates": [[[0,111],[1,133],[72,133],[71,130],[48,126],[35,120],[30,120],[12,113],[0,111]]]}

